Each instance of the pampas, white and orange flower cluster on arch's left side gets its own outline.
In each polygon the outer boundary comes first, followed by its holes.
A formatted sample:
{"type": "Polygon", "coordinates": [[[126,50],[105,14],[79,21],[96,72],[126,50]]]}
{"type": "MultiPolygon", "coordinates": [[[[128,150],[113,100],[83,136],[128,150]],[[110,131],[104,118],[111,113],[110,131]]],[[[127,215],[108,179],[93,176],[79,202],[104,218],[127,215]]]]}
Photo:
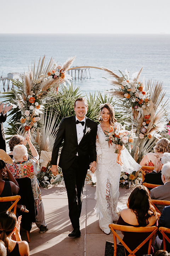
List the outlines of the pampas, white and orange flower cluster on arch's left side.
{"type": "Polygon", "coordinates": [[[35,71],[34,64],[32,71],[21,75],[22,83],[13,81],[13,84],[17,85],[19,90],[13,90],[15,98],[12,98],[10,103],[17,105],[19,111],[21,111],[22,118],[20,122],[23,130],[28,131],[33,127],[40,127],[40,119],[35,118],[43,113],[45,100],[49,92],[53,90],[54,93],[57,93],[58,86],[71,78],[65,73],[74,59],[75,57],[68,59],[61,67],[57,66],[57,63],[53,63],[53,59],[45,64],[44,56],[42,61],[39,60],[37,71],[35,71]],[[42,70],[43,73],[41,73],[42,70]]]}

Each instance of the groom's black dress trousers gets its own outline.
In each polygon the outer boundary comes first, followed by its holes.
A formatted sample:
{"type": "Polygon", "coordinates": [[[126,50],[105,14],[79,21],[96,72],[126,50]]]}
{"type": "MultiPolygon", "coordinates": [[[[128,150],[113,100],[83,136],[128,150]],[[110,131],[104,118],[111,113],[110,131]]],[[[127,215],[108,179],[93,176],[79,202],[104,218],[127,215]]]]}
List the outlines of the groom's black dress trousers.
{"type": "Polygon", "coordinates": [[[69,218],[73,228],[80,228],[79,218],[87,170],[79,167],[76,156],[73,164],[68,169],[62,169],[62,172],[67,190],[69,218]]]}

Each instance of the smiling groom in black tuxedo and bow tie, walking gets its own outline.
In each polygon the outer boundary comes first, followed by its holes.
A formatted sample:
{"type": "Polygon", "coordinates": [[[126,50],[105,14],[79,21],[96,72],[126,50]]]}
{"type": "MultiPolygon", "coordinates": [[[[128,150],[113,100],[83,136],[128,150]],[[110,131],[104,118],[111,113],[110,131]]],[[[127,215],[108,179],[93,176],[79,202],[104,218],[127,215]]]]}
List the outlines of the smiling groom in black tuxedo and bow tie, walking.
{"type": "Polygon", "coordinates": [[[59,166],[62,168],[68,196],[69,217],[73,231],[68,236],[80,236],[83,187],[87,170],[96,170],[97,123],[87,118],[87,101],[78,98],[74,103],[75,116],[63,118],[53,146],[51,171],[58,174],[58,151],[64,139],[59,166]]]}

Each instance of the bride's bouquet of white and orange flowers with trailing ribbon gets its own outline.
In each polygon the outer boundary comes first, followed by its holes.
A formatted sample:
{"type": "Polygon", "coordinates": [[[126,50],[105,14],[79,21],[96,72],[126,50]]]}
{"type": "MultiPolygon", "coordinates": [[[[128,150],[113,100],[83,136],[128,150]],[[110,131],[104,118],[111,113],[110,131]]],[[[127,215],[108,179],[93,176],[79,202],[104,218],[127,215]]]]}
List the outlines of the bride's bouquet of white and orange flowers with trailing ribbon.
{"type": "MultiPolygon", "coordinates": [[[[136,138],[134,130],[125,130],[124,127],[120,126],[120,124],[115,123],[114,126],[111,126],[111,130],[109,130],[108,135],[106,135],[107,141],[109,144],[117,144],[117,145],[125,145],[125,148],[132,149],[134,138],[136,138]]],[[[120,149],[116,149],[115,153],[118,153],[117,163],[122,165],[120,160],[120,149]]]]}

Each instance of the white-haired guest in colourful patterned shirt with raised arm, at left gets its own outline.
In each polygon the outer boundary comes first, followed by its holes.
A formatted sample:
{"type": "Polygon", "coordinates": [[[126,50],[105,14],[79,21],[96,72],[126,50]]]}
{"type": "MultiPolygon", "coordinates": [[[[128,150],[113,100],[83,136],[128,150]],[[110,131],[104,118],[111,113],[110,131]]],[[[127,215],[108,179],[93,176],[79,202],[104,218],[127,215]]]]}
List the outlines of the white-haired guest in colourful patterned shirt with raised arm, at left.
{"type": "Polygon", "coordinates": [[[30,147],[33,157],[28,160],[28,151],[26,146],[19,144],[13,148],[13,164],[8,164],[8,169],[11,171],[15,178],[25,178],[31,179],[32,190],[34,195],[34,200],[37,209],[35,224],[40,229],[40,233],[45,233],[48,227],[45,223],[44,206],[41,199],[41,191],[39,188],[39,183],[36,175],[40,171],[39,169],[39,154],[35,149],[34,145],[30,140],[30,132],[27,134],[27,142],[30,147]]]}

